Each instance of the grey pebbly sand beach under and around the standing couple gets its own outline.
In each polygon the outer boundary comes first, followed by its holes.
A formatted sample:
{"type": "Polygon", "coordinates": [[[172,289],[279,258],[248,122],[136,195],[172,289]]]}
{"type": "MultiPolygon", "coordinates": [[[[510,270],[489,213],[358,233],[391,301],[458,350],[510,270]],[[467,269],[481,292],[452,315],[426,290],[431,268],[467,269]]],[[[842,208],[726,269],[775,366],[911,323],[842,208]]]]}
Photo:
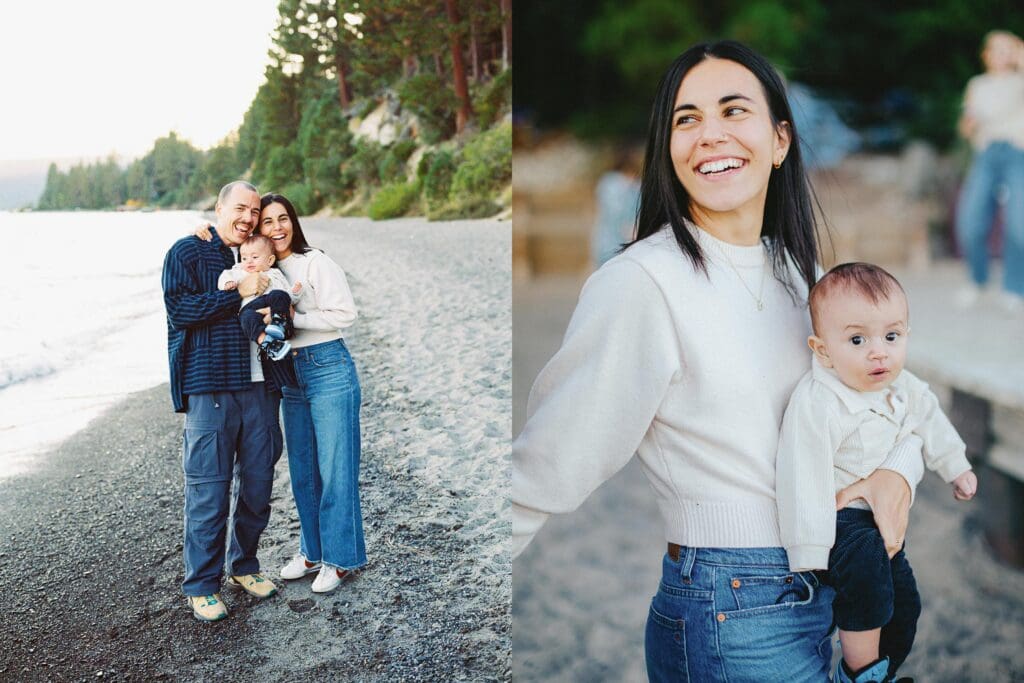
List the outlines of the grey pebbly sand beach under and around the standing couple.
{"type": "MultiPolygon", "coordinates": [[[[360,499],[369,565],[335,593],[311,577],[230,617],[180,594],[182,416],[166,385],[129,396],[32,472],[0,482],[0,680],[509,680],[506,490],[510,226],[308,219],[360,317],[360,499]]],[[[287,456],[286,456],[287,457],[287,456]]],[[[298,547],[285,459],[260,543],[298,547]]]]}

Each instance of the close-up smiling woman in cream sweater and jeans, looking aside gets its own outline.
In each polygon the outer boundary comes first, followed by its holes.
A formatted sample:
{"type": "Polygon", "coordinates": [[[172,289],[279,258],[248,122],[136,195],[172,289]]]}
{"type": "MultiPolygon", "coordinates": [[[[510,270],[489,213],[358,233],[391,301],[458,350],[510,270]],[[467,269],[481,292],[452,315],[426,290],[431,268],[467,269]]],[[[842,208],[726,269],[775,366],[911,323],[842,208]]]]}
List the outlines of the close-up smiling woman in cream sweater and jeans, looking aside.
{"type": "MultiPolygon", "coordinates": [[[[777,74],[738,43],[694,46],[669,68],[637,239],[585,285],[513,444],[516,554],[638,455],[669,544],[645,635],[652,681],[827,677],[833,593],[787,572],[774,503],[817,273],[792,121],[777,74]]],[[[866,499],[895,547],[920,441],[886,467],[841,497],[866,499]]]]}

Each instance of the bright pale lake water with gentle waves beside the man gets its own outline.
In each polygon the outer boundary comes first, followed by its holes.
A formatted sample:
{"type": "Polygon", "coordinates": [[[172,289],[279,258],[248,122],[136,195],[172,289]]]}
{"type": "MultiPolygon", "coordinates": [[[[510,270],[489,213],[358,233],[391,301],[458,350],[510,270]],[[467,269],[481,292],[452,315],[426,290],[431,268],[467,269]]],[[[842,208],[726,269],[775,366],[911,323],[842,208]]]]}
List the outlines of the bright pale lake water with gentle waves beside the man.
{"type": "Polygon", "coordinates": [[[0,477],[31,467],[126,394],[167,381],[161,268],[201,219],[0,212],[0,477]]]}

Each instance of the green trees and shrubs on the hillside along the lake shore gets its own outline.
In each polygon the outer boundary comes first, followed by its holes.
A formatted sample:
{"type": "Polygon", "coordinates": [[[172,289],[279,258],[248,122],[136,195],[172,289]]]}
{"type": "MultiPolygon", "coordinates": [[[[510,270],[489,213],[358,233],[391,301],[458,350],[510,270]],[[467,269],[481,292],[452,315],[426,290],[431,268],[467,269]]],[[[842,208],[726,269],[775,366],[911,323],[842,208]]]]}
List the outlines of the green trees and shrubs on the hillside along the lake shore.
{"type": "Polygon", "coordinates": [[[113,159],[68,171],[51,165],[37,208],[208,206],[236,178],[284,194],[303,214],[334,206],[390,217],[440,205],[458,213],[464,203],[490,201],[503,190],[494,178],[511,180],[511,60],[504,51],[511,18],[502,4],[456,0],[453,23],[443,0],[282,0],[265,83],[238,131],[208,151],[171,132],[126,169],[113,159]],[[458,134],[456,40],[472,97],[468,126],[458,134]],[[387,146],[349,130],[351,120],[382,102],[408,124],[387,146]],[[442,155],[455,164],[443,182],[438,171],[425,184],[410,168],[421,147],[422,158],[442,155]],[[504,167],[481,168],[488,163],[504,167]],[[467,180],[455,189],[460,171],[467,180]]]}

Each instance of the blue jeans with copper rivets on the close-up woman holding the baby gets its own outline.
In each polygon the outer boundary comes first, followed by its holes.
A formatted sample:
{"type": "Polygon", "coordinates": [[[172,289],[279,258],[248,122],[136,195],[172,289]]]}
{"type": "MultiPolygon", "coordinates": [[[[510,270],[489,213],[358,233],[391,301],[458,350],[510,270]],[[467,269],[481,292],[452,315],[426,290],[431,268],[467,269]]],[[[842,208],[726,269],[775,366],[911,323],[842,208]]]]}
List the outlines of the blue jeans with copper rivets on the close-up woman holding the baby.
{"type": "Polygon", "coordinates": [[[781,548],[668,554],[647,616],[647,676],[660,681],[828,679],[831,588],[788,570],[781,548]]]}

